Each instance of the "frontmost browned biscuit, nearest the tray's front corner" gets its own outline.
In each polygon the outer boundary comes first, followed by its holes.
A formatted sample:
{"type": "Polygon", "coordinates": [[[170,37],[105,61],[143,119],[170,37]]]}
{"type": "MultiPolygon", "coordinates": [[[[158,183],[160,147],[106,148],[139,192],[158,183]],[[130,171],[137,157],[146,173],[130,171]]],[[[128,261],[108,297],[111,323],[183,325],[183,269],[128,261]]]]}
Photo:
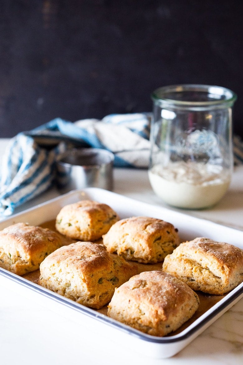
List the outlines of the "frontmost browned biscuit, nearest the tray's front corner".
{"type": "Polygon", "coordinates": [[[198,306],[199,298],[187,284],[162,271],[146,271],[115,289],[108,316],[149,335],[165,336],[198,306]]]}

